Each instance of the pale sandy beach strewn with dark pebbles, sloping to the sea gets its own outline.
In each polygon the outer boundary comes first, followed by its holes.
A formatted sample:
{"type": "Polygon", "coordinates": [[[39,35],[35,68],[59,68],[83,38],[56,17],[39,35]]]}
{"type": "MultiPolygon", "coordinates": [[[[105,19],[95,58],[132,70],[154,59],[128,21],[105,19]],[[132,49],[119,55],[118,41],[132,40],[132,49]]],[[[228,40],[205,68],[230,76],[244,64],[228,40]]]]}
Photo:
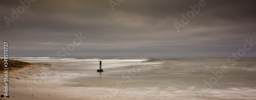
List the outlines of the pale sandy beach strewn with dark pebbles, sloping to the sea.
{"type": "MultiPolygon", "coordinates": [[[[16,60],[9,60],[13,65],[8,71],[8,90],[9,97],[4,96],[1,99],[26,99],[26,100],[49,100],[49,99],[99,99],[96,97],[87,97],[86,94],[79,93],[77,88],[69,86],[56,86],[46,81],[53,67],[50,64],[27,63],[16,60]],[[17,67],[17,64],[24,63],[23,66],[17,67]],[[83,94],[83,95],[80,95],[83,94]],[[84,98],[87,97],[87,98],[84,98]]],[[[4,70],[0,77],[3,79],[0,84],[4,86],[4,70]]],[[[1,91],[4,88],[0,89],[1,91]]],[[[89,92],[89,91],[88,91],[89,92]]],[[[86,92],[84,92],[86,93],[86,92]]]]}

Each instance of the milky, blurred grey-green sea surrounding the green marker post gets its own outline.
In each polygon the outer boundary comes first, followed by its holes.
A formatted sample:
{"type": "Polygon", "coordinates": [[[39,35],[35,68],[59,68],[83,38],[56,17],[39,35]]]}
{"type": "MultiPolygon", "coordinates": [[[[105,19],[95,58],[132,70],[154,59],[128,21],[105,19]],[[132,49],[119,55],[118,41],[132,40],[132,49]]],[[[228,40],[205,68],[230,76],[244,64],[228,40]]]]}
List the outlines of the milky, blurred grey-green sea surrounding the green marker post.
{"type": "Polygon", "coordinates": [[[242,58],[236,65],[226,58],[195,57],[10,59],[56,62],[45,82],[72,88],[80,98],[86,94],[84,99],[256,99],[256,58],[242,58]],[[96,72],[99,60],[104,72],[96,72]],[[228,72],[221,71],[223,66],[228,72]]]}

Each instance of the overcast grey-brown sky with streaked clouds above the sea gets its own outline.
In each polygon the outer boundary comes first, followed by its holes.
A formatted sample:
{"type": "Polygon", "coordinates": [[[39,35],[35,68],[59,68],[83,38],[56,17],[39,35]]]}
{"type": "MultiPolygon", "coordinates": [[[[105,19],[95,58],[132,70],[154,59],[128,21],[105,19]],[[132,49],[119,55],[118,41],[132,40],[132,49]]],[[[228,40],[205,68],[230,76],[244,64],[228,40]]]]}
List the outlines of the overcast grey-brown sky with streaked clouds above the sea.
{"type": "MultiPolygon", "coordinates": [[[[178,32],[174,22],[181,23],[181,14],[198,3],[124,0],[113,11],[109,0],[36,0],[8,28],[4,17],[12,18],[11,9],[22,4],[1,0],[0,52],[7,41],[11,57],[56,57],[80,33],[87,39],[67,56],[227,57],[243,48],[244,39],[256,41],[253,0],[205,0],[206,6],[178,32]]],[[[256,44],[245,57],[256,57],[256,44]]]]}

